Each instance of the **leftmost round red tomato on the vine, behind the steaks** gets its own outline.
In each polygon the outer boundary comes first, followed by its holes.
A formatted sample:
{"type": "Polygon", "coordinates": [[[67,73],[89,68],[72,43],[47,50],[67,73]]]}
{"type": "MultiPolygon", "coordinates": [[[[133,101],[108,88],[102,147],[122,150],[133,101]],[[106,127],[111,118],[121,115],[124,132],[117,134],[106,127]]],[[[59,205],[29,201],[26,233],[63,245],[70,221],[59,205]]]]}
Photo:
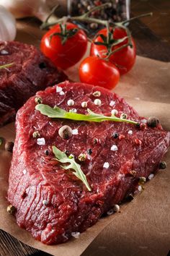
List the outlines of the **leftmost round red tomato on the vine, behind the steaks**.
{"type": "MultiPolygon", "coordinates": [[[[66,23],[67,30],[75,28],[78,27],[72,23],[66,23]]],[[[61,33],[60,25],[55,25],[42,37],[41,51],[53,61],[56,67],[68,69],[84,56],[87,47],[86,34],[79,29],[75,35],[66,40],[66,43],[62,44],[61,36],[53,35],[54,33],[61,33]],[[50,39],[51,35],[53,36],[50,39]]]]}

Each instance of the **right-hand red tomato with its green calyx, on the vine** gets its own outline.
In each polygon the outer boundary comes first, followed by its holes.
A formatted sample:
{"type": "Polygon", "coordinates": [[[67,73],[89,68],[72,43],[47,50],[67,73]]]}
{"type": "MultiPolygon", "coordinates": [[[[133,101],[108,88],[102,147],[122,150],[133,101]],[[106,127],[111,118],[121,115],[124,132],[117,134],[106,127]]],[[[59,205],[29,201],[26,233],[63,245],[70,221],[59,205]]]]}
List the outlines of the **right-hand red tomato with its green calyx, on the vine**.
{"type": "MultiPolygon", "coordinates": [[[[109,40],[107,39],[107,28],[99,30],[96,38],[91,44],[91,56],[107,57],[108,51],[118,50],[128,43],[127,33],[121,27],[110,28],[109,40]],[[123,38],[125,38],[123,40],[123,38]],[[121,40],[122,39],[122,40],[121,40]],[[120,43],[119,43],[120,40],[120,43]],[[114,45],[114,42],[116,45],[114,45]]],[[[115,64],[120,74],[125,74],[132,69],[135,64],[136,47],[135,41],[131,37],[132,46],[126,46],[109,56],[109,61],[115,64]]]]}

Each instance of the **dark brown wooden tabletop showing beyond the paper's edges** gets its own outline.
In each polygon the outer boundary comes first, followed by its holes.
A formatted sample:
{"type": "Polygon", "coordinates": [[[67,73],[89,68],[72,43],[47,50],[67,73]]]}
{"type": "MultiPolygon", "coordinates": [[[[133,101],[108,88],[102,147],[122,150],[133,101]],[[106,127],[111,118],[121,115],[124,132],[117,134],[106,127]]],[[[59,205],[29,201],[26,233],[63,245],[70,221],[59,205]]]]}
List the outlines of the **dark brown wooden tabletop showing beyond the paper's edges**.
{"type": "MultiPolygon", "coordinates": [[[[143,22],[139,20],[130,25],[133,37],[137,44],[137,53],[160,61],[170,61],[170,45],[161,38],[158,38],[143,22]]],[[[1,256],[44,256],[48,253],[27,246],[4,231],[0,230],[0,255],[1,256]]],[[[86,251],[84,252],[84,256],[86,251]]],[[[104,252],[104,255],[106,253],[104,252]]],[[[64,255],[63,255],[64,256],[64,255]]],[[[86,255],[87,256],[87,255],[86,255]]],[[[107,255],[106,255],[107,256],[107,255]]]]}

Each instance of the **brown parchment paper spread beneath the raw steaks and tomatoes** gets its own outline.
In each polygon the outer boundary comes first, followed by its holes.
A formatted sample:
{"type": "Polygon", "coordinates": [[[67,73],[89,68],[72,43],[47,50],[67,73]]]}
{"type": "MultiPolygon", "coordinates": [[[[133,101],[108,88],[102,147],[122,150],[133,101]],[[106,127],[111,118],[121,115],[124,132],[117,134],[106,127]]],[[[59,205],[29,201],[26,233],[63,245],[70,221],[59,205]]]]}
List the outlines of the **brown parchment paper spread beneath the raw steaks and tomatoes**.
{"type": "MultiPolygon", "coordinates": [[[[35,28],[27,30],[24,41],[31,41],[39,32],[35,28]]],[[[27,29],[26,29],[27,28],[27,29]]],[[[23,41],[22,23],[19,24],[18,40],[23,41]]],[[[25,35],[25,33],[24,33],[25,35]]],[[[36,40],[36,39],[35,39],[36,40]]],[[[35,45],[38,41],[35,41],[35,45]]],[[[170,64],[137,57],[135,67],[121,78],[115,92],[124,97],[141,116],[156,116],[166,130],[170,130],[170,64]]],[[[71,80],[78,80],[76,67],[68,70],[71,80]]],[[[16,219],[7,213],[6,200],[8,176],[12,153],[5,150],[5,141],[14,142],[14,123],[0,129],[0,229],[8,232],[25,244],[57,256],[87,255],[167,255],[170,244],[170,151],[164,161],[167,167],[149,176],[142,184],[141,191],[131,202],[125,202],[109,210],[107,217],[101,218],[94,226],[82,234],[76,232],[65,244],[48,246],[37,242],[24,229],[19,228],[16,219]],[[143,189],[144,187],[144,189],[143,189]]],[[[12,208],[8,208],[9,212],[12,208]]]]}

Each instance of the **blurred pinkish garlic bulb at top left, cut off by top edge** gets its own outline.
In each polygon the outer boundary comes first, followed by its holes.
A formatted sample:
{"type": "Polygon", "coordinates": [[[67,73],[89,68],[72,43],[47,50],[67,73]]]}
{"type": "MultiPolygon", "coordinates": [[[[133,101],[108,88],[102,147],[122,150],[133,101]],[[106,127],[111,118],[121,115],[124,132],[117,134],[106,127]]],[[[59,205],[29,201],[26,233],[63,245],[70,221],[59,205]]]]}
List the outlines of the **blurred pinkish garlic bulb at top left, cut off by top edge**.
{"type": "MultiPolygon", "coordinates": [[[[1,0],[0,3],[8,9],[9,12],[12,12],[17,19],[35,16],[44,22],[50,14],[48,0],[1,0]]],[[[58,4],[58,1],[50,1],[49,4],[53,4],[54,6],[58,4]]],[[[56,20],[56,17],[52,15],[50,21],[53,21],[54,19],[56,20]]]]}

